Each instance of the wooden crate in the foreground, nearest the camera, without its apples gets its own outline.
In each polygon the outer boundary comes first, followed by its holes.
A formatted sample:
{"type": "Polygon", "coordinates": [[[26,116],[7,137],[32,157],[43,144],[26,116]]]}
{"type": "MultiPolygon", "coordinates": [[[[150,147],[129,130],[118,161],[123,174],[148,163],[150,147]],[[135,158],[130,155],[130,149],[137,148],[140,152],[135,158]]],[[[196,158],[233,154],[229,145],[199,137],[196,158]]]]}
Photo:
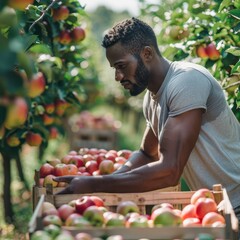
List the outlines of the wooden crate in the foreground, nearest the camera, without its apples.
{"type": "MultiPolygon", "coordinates": [[[[49,189],[47,189],[49,191],[49,189]]],[[[94,193],[84,195],[96,195],[101,197],[105,205],[108,207],[116,206],[122,200],[135,201],[142,212],[145,212],[147,206],[156,205],[162,202],[172,203],[174,205],[183,207],[190,202],[190,198],[194,192],[159,192],[151,191],[145,193],[130,193],[130,194],[112,194],[112,193],[94,193]]],[[[92,227],[86,229],[78,229],[75,227],[63,227],[69,230],[74,236],[78,232],[87,232],[93,237],[103,237],[110,235],[122,235],[125,240],[137,239],[194,239],[198,234],[206,233],[211,234],[214,239],[238,239],[238,220],[233,212],[231,203],[229,201],[225,189],[213,191],[216,201],[221,201],[223,216],[226,220],[225,227],[152,227],[152,228],[125,228],[125,227],[92,227]]],[[[59,207],[63,203],[67,203],[70,199],[79,198],[80,194],[67,194],[67,195],[54,195],[48,193],[41,195],[40,200],[33,213],[29,223],[29,233],[42,229],[43,224],[41,221],[42,203],[43,201],[50,201],[59,207]]]]}

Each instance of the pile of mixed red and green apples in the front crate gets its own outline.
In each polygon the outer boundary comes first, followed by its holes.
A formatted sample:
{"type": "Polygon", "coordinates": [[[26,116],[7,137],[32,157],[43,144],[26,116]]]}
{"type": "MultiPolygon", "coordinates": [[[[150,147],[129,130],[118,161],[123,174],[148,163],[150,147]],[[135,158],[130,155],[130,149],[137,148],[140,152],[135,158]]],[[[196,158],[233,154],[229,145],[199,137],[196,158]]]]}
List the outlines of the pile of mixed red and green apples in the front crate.
{"type": "MultiPolygon", "coordinates": [[[[153,206],[150,214],[140,213],[138,205],[130,200],[119,202],[116,210],[112,211],[96,195],[81,196],[59,208],[50,202],[44,202],[42,223],[42,232],[52,234],[53,229],[58,229],[55,233],[67,230],[64,227],[75,227],[82,231],[92,227],[223,227],[225,219],[217,210],[212,192],[202,188],[192,195],[190,203],[182,210],[166,202],[153,206]]],[[[70,239],[80,239],[84,234],[86,233],[79,232],[70,239]]],[[[86,236],[90,237],[89,234],[86,236]]]]}

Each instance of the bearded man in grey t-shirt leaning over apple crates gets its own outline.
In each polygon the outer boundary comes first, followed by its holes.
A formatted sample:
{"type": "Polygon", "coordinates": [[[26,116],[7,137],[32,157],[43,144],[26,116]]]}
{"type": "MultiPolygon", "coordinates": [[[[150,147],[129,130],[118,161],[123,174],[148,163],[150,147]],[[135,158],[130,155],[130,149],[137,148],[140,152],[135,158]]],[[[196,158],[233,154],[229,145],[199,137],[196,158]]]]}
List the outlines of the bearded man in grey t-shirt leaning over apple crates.
{"type": "Polygon", "coordinates": [[[147,89],[147,121],[139,151],[116,173],[59,177],[61,193],[144,192],[175,186],[192,190],[220,183],[240,215],[240,125],[224,93],[202,66],[161,56],[150,26],[128,19],[102,42],[115,79],[131,95],[147,89]]]}

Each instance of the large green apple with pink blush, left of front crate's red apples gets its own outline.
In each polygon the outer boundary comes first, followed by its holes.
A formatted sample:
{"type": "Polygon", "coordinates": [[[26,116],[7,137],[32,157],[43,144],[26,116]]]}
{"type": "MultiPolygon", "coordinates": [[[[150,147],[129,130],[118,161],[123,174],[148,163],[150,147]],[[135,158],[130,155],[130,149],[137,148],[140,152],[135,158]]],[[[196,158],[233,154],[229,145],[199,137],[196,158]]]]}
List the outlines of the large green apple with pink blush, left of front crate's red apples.
{"type": "Polygon", "coordinates": [[[177,226],[181,224],[181,217],[170,208],[158,208],[151,214],[154,226],[177,226]]]}

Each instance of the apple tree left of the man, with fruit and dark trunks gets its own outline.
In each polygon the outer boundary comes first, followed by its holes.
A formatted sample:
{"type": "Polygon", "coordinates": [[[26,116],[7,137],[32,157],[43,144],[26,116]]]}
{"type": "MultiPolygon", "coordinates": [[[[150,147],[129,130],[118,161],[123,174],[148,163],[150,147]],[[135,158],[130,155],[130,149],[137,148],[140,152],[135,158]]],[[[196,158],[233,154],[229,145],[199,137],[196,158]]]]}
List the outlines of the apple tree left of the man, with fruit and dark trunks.
{"type": "Polygon", "coordinates": [[[85,88],[98,82],[84,43],[87,27],[78,0],[0,3],[0,153],[7,222],[13,221],[11,160],[29,190],[20,159],[23,146],[43,152],[64,134],[65,116],[87,104],[88,95],[97,95],[85,88]]]}

